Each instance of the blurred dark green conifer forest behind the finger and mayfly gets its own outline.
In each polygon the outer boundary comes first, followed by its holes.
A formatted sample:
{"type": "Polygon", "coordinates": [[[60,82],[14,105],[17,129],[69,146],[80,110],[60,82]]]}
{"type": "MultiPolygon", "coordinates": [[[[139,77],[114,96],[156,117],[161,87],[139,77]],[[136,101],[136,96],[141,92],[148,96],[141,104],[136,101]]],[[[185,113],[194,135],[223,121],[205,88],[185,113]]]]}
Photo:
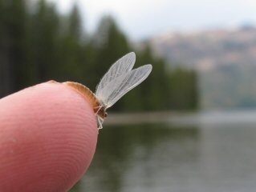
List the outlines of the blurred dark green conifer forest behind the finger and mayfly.
{"type": "Polygon", "coordinates": [[[0,98],[51,79],[94,91],[112,63],[134,51],[135,67],[150,63],[152,73],[112,111],[197,110],[197,73],[170,67],[146,41],[141,45],[133,45],[110,15],[89,34],[78,6],[60,14],[45,0],[0,0],[0,98]]]}

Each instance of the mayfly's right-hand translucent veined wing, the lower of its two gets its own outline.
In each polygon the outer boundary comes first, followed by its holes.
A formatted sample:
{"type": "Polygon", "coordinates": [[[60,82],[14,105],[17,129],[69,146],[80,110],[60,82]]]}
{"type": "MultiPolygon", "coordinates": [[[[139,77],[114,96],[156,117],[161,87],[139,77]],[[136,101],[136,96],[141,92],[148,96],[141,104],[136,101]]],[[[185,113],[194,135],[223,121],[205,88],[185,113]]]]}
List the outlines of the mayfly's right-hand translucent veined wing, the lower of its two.
{"type": "Polygon", "coordinates": [[[113,79],[112,82],[109,82],[108,85],[104,86],[104,89],[100,90],[102,94],[96,94],[96,97],[104,102],[107,109],[114,105],[129,90],[132,90],[135,86],[138,86],[140,82],[143,82],[144,79],[148,77],[151,70],[151,65],[145,65],[135,70],[130,70],[126,74],[121,74],[113,79]]]}

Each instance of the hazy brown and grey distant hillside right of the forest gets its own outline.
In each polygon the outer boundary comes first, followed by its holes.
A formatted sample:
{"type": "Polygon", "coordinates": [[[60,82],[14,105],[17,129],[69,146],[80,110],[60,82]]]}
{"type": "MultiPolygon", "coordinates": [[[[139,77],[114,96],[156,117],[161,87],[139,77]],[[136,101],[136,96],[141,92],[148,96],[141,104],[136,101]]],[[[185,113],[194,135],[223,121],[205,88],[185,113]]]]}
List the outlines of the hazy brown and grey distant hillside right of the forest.
{"type": "Polygon", "coordinates": [[[256,108],[256,29],[163,34],[150,40],[173,66],[201,76],[203,109],[256,108]]]}

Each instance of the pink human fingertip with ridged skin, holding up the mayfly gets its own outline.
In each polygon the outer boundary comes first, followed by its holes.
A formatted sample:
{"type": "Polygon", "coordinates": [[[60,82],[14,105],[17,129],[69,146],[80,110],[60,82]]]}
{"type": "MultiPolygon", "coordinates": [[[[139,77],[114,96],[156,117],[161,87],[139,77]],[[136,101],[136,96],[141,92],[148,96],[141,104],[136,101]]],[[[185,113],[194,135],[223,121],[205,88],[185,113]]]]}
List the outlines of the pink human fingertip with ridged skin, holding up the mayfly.
{"type": "Polygon", "coordinates": [[[0,191],[68,191],[95,154],[91,104],[46,82],[0,99],[0,191]]]}

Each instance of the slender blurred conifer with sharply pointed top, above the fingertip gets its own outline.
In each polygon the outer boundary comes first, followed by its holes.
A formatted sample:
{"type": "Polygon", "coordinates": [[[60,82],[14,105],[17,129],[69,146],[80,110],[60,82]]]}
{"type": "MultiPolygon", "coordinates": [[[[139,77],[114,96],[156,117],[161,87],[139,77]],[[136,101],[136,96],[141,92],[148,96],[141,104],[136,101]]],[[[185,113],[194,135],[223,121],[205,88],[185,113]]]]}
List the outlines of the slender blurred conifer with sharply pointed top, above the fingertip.
{"type": "Polygon", "coordinates": [[[75,5],[64,20],[63,30],[61,32],[61,40],[59,46],[59,73],[55,73],[57,79],[61,82],[72,80],[81,81],[83,78],[84,62],[86,60],[86,52],[83,51],[83,30],[79,9],[75,5]]]}

